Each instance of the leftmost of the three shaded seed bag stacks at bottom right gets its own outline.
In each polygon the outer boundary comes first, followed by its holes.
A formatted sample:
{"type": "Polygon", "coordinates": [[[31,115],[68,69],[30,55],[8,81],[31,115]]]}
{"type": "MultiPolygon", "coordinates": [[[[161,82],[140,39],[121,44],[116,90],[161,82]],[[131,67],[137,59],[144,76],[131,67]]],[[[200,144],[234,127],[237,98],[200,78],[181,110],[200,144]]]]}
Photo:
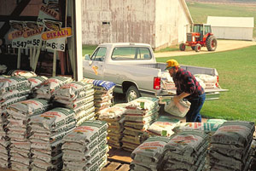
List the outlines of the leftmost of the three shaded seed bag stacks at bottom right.
{"type": "Polygon", "coordinates": [[[164,155],[165,145],[169,137],[149,137],[143,144],[139,145],[131,153],[130,168],[134,171],[157,171],[160,170],[160,163],[164,155]]]}

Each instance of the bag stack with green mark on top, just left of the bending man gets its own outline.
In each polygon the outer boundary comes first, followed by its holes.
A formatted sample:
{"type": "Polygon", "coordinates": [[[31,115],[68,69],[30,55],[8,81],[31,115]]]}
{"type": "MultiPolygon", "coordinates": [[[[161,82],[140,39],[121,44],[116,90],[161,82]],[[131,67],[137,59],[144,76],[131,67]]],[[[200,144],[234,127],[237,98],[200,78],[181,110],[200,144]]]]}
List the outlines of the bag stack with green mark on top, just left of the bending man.
{"type": "Polygon", "coordinates": [[[147,140],[146,130],[158,117],[158,102],[156,98],[140,97],[125,106],[125,130],[121,140],[123,149],[133,151],[147,140]]]}

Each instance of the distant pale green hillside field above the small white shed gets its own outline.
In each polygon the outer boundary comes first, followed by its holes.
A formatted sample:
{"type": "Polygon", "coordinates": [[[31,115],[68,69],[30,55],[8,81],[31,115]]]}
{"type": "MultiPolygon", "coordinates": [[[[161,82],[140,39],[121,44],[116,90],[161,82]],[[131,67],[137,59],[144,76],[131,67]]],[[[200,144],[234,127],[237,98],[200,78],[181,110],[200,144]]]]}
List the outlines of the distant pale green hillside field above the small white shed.
{"type": "Polygon", "coordinates": [[[187,3],[194,23],[207,23],[207,16],[254,17],[253,37],[256,37],[256,7],[236,4],[187,3]]]}

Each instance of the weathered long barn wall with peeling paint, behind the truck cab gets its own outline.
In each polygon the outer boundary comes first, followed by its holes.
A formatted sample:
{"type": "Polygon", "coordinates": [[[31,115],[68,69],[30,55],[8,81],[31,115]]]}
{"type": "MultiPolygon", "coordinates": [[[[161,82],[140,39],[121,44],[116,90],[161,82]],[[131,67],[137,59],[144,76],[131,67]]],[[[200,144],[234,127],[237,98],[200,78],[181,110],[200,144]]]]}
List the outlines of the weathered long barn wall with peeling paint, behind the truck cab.
{"type": "Polygon", "coordinates": [[[154,47],[155,0],[84,0],[83,44],[133,42],[154,47]]]}

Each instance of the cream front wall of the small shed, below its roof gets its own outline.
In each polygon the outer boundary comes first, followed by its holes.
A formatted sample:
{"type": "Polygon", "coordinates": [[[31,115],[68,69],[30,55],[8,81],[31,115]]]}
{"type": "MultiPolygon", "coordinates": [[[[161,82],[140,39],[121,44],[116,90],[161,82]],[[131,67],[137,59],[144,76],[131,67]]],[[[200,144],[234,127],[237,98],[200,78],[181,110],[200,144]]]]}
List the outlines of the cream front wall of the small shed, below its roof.
{"type": "Polygon", "coordinates": [[[217,38],[231,40],[253,40],[253,28],[212,26],[212,32],[217,38]]]}

